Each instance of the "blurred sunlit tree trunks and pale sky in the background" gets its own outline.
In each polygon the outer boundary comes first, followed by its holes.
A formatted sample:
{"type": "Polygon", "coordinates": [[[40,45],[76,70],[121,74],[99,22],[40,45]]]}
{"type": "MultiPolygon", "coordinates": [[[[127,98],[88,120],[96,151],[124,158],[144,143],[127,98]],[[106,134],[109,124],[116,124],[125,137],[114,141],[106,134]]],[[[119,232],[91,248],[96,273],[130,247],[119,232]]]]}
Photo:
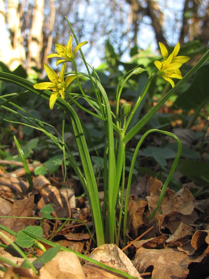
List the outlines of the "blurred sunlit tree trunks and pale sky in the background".
{"type": "Polygon", "coordinates": [[[83,51],[92,64],[104,58],[108,38],[122,60],[130,49],[154,50],[157,42],[199,39],[208,46],[208,0],[0,0],[0,61],[28,74],[43,69],[54,44],[69,39],[64,16],[79,40],[89,41],[83,51]]]}

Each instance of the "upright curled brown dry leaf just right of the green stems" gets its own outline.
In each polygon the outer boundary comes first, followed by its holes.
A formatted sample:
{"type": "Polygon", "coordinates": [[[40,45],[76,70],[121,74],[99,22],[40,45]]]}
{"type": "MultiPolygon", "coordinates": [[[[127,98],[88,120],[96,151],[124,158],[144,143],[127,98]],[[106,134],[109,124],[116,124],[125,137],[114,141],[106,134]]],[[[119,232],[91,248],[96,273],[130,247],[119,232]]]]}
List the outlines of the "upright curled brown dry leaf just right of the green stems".
{"type": "Polygon", "coordinates": [[[134,237],[138,236],[138,229],[146,223],[146,215],[144,213],[147,201],[137,200],[135,201],[135,196],[131,195],[128,200],[128,216],[127,233],[130,231],[133,233],[134,237]]]}

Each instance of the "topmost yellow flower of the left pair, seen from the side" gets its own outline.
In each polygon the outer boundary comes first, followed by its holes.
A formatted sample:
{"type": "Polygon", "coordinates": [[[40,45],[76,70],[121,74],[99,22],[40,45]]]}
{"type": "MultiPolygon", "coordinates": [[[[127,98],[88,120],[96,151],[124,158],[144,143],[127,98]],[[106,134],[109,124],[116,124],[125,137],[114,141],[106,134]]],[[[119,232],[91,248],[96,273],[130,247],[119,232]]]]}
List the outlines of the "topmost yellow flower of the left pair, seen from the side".
{"type": "Polygon", "coordinates": [[[56,46],[56,51],[57,53],[53,53],[50,55],[47,55],[46,58],[51,58],[51,57],[61,57],[64,58],[62,60],[58,60],[56,63],[56,66],[59,65],[62,62],[72,62],[75,58],[75,54],[76,52],[85,44],[87,44],[88,42],[81,42],[80,44],[78,44],[76,46],[76,48],[74,49],[73,53],[72,53],[72,35],[70,36],[70,39],[67,43],[67,46],[63,46],[61,44],[55,44],[56,46]]]}

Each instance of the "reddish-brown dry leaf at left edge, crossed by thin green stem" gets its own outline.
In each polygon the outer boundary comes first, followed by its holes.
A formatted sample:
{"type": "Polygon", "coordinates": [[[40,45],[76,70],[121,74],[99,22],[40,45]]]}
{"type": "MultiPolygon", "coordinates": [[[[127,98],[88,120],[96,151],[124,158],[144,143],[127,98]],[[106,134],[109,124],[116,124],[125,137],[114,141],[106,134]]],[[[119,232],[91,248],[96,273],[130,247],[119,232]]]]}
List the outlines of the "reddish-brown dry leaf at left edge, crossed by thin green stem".
{"type": "MultiPolygon", "coordinates": [[[[34,208],[34,196],[26,198],[24,200],[18,200],[13,203],[12,209],[10,210],[7,216],[17,216],[17,217],[32,217],[34,208]]],[[[13,230],[14,232],[19,232],[24,229],[26,224],[28,223],[28,219],[16,219],[16,218],[1,218],[0,224],[3,226],[13,230]]],[[[15,240],[15,236],[9,234],[4,231],[4,234],[9,237],[12,241],[15,240]]],[[[2,240],[6,243],[5,240],[2,240]]],[[[9,243],[6,243],[9,245],[9,243]]]]}

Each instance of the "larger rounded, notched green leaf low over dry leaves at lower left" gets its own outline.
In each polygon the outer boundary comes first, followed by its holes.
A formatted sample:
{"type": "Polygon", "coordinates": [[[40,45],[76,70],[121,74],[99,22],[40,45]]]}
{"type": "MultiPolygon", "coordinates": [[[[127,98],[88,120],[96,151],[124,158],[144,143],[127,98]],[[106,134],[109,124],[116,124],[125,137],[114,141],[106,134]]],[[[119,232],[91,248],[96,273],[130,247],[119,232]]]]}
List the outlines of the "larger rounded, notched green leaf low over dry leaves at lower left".
{"type": "Polygon", "coordinates": [[[35,238],[26,234],[25,231],[31,232],[31,233],[37,235],[38,237],[41,237],[43,234],[43,229],[39,226],[28,226],[28,227],[24,228],[23,230],[21,230],[20,232],[18,232],[17,236],[15,238],[15,242],[17,245],[24,247],[24,248],[31,247],[36,240],[35,238]]]}

